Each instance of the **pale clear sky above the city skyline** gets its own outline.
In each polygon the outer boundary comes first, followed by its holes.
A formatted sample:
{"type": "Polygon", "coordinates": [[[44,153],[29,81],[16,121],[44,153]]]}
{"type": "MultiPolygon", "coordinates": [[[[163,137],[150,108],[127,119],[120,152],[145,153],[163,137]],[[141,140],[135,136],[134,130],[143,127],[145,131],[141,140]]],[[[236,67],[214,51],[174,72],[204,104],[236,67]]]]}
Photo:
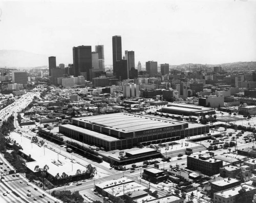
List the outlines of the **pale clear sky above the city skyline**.
{"type": "MultiPolygon", "coordinates": [[[[104,45],[158,64],[256,61],[256,1],[1,1],[0,50],[24,50],[73,63],[72,48],[104,45]]],[[[48,58],[46,57],[46,65],[48,58]]]]}

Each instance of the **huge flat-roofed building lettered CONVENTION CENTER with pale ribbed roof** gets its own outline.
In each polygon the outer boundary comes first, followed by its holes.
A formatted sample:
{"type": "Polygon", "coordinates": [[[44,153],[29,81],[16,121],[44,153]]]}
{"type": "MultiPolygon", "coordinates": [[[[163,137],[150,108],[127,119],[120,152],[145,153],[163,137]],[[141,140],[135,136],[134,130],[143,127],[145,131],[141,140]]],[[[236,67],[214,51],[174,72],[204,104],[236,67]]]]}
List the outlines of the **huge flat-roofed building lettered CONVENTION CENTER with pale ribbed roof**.
{"type": "Polygon", "coordinates": [[[170,142],[209,132],[206,125],[126,113],[75,118],[71,122],[59,126],[59,132],[106,150],[170,142]]]}

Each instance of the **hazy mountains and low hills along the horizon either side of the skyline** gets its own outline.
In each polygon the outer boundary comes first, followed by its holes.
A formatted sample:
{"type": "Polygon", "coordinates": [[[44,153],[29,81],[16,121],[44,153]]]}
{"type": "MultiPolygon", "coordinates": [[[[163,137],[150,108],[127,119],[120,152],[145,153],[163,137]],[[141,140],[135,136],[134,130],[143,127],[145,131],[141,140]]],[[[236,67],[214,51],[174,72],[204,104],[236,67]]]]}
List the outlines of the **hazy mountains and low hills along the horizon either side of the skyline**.
{"type": "MultiPolygon", "coordinates": [[[[184,66],[188,64],[171,65],[171,66],[184,66]]],[[[190,63],[190,65],[200,65],[199,63],[190,63]]],[[[204,64],[201,64],[204,65],[204,64]]],[[[209,66],[221,65],[223,68],[228,67],[252,67],[256,69],[255,61],[244,62],[230,62],[221,64],[207,64],[209,66]]],[[[48,56],[43,54],[35,54],[22,50],[0,50],[0,67],[1,68],[26,68],[32,69],[35,67],[48,67],[48,56]]]]}

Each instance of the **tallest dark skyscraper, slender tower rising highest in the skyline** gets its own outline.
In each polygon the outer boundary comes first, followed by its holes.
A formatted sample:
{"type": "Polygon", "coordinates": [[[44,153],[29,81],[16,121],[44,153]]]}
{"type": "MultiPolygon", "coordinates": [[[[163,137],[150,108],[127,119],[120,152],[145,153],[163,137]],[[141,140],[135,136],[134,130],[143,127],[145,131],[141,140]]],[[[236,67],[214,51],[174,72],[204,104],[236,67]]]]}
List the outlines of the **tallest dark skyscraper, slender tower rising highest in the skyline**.
{"type": "Polygon", "coordinates": [[[116,75],[116,61],[122,60],[122,40],[121,36],[112,37],[112,51],[113,51],[113,73],[116,75]]]}

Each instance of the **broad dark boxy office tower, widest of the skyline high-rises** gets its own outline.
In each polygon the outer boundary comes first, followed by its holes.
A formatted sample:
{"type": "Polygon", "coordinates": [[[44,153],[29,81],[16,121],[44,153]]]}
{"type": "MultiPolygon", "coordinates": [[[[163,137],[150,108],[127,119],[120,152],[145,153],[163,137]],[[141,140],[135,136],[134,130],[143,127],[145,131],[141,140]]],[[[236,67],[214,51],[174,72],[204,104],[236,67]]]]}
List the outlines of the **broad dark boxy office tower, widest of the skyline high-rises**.
{"type": "Polygon", "coordinates": [[[92,69],[92,47],[73,47],[73,65],[74,76],[82,75],[86,80],[90,81],[90,69],[92,69]]]}

